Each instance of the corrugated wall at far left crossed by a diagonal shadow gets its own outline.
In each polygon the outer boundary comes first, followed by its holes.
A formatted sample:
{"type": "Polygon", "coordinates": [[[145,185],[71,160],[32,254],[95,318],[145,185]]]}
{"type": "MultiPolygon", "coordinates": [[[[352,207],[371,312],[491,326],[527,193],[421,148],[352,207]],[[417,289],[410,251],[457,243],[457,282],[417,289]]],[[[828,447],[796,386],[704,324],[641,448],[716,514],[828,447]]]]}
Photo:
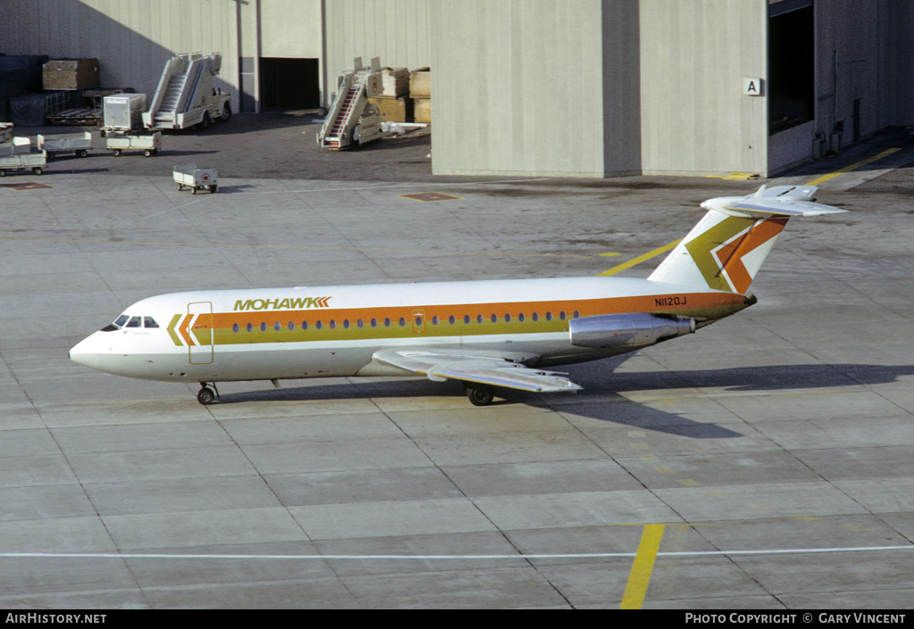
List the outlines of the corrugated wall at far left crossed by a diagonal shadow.
{"type": "Polygon", "coordinates": [[[102,87],[152,95],[179,52],[222,53],[217,85],[238,111],[234,0],[5,0],[0,52],[99,59],[102,87]]]}

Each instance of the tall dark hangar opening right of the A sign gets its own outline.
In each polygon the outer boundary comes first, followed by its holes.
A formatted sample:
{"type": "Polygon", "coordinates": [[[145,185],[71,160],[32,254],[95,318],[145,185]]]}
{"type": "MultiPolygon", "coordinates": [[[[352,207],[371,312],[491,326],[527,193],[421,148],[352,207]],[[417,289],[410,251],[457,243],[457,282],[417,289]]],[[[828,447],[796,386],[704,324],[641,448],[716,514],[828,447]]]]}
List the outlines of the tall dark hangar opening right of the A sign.
{"type": "Polygon", "coordinates": [[[769,6],[769,133],[815,116],[813,32],[812,0],[781,0],[769,6]]]}

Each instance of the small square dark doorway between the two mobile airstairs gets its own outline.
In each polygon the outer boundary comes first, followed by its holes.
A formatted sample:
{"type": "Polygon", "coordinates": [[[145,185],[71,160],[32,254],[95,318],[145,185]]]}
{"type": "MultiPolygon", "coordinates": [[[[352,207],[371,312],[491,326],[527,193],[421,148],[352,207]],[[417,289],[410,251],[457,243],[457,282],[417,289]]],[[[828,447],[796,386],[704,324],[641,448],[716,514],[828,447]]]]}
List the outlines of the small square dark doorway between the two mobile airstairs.
{"type": "Polygon", "coordinates": [[[318,59],[260,58],[260,111],[294,112],[320,106],[318,59]]]}

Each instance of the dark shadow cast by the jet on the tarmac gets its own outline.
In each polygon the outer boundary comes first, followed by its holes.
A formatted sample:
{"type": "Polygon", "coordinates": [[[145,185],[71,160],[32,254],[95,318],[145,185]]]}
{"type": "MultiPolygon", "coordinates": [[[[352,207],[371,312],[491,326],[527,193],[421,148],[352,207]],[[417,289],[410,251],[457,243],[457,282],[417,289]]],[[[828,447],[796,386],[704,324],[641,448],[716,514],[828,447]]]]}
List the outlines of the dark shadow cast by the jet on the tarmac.
{"type": "MultiPolygon", "coordinates": [[[[571,365],[565,369],[575,382],[584,387],[576,395],[536,394],[517,390],[498,390],[504,395],[492,406],[526,404],[528,406],[567,412],[598,421],[666,432],[690,439],[732,439],[739,432],[714,423],[693,421],[681,415],[628,400],[621,393],[628,390],[717,388],[728,391],[782,391],[791,389],[827,389],[894,382],[899,376],[914,375],[914,366],[877,365],[789,365],[772,367],[704,369],[696,371],[640,371],[614,373],[625,357],[607,358],[593,363],[571,365]]],[[[219,403],[237,404],[256,401],[352,400],[367,398],[452,398],[461,396],[462,386],[454,381],[431,382],[425,378],[379,381],[356,378],[340,384],[315,385],[289,389],[263,389],[220,396],[219,403]]],[[[467,401],[467,408],[472,409],[467,401]]]]}

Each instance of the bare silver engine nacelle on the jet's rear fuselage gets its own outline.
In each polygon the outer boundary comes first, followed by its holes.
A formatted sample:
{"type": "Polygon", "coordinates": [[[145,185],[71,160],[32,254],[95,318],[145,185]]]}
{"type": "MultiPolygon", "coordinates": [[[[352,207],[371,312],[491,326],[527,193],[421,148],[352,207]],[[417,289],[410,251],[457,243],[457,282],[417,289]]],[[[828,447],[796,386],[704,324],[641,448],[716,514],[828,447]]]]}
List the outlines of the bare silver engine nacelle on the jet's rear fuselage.
{"type": "Polygon", "coordinates": [[[631,351],[695,332],[695,319],[629,313],[585,316],[569,321],[571,345],[631,351]]]}

